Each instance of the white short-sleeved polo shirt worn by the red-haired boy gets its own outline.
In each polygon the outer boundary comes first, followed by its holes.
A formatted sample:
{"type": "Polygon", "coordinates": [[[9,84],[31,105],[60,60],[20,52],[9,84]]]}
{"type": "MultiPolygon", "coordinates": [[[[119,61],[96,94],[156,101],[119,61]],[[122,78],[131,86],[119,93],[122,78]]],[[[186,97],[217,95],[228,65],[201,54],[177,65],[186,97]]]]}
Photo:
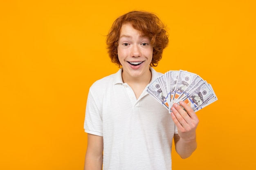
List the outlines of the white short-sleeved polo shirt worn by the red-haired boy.
{"type": "MultiPolygon", "coordinates": [[[[151,81],[162,74],[150,70],[151,81]]],[[[103,137],[103,170],[171,170],[171,115],[146,88],[136,99],[121,73],[96,81],[88,93],[84,128],[103,137]]]]}

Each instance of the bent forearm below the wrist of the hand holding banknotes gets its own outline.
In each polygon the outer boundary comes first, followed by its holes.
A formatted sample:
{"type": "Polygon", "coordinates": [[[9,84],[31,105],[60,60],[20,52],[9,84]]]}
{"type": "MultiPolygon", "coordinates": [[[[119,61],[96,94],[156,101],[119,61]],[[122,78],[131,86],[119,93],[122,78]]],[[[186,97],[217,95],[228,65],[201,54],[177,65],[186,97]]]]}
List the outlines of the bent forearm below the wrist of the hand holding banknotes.
{"type": "Polygon", "coordinates": [[[182,159],[188,158],[197,148],[196,138],[186,141],[180,138],[175,143],[175,150],[182,159]]]}

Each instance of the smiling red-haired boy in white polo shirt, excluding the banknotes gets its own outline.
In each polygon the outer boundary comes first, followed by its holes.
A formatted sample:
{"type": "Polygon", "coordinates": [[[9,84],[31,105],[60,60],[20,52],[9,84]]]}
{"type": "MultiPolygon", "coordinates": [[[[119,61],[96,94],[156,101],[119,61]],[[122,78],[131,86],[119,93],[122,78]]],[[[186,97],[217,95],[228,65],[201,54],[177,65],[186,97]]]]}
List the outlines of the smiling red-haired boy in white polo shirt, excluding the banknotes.
{"type": "Polygon", "coordinates": [[[126,13],[107,36],[108,53],[120,69],[95,82],[88,93],[85,170],[171,170],[172,140],[182,158],[196,149],[198,117],[174,104],[171,114],[146,92],[162,73],[157,66],[168,45],[159,18],[145,11],[126,13]],[[103,149],[104,148],[104,149],[103,149]]]}

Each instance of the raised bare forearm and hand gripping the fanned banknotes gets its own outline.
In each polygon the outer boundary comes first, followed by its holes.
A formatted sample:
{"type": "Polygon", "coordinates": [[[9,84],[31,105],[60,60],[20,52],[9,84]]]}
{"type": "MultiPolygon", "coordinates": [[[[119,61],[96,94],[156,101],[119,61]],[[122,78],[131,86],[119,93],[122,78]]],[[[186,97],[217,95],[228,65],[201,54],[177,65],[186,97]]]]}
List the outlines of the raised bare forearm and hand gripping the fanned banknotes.
{"type": "Polygon", "coordinates": [[[189,105],[182,101],[180,105],[187,110],[187,112],[179,105],[173,104],[171,117],[178,129],[178,134],[174,135],[175,150],[181,158],[185,159],[197,148],[195,130],[199,120],[189,105]]]}

